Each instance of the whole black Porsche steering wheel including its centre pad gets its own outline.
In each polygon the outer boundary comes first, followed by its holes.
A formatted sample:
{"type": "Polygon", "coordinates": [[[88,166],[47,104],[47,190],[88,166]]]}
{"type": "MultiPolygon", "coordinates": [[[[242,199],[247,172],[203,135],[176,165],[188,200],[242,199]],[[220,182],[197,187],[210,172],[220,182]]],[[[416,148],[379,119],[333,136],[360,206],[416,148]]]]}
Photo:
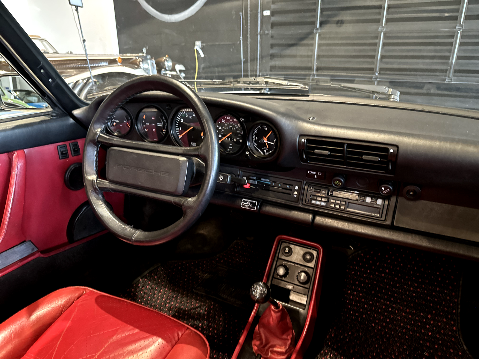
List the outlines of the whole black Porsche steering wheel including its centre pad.
{"type": "Polygon", "coordinates": [[[141,76],[112,92],[95,113],[83,151],[83,180],[93,212],[115,236],[136,245],[156,245],[173,239],[193,225],[205,211],[215,191],[219,146],[211,114],[188,86],[166,76],[141,76]],[[105,126],[115,111],[132,97],[147,91],[171,93],[187,103],[199,117],[204,139],[200,146],[178,147],[139,142],[108,135],[105,126]],[[108,146],[106,179],[98,175],[100,145],[108,146]],[[195,172],[204,178],[194,197],[184,195],[195,172]],[[107,205],[103,192],[121,192],[169,202],[182,208],[183,216],[170,226],[145,232],[125,224],[107,205]]]}

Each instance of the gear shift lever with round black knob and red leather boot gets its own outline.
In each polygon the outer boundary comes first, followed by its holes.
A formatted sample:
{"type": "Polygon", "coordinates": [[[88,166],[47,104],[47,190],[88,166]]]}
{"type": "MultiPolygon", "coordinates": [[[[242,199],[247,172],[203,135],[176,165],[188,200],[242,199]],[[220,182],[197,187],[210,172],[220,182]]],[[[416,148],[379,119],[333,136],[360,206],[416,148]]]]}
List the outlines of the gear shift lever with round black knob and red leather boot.
{"type": "Polygon", "coordinates": [[[250,295],[256,303],[271,303],[253,332],[252,347],[256,358],[288,359],[295,349],[295,332],[288,312],[271,298],[271,289],[265,282],[254,283],[250,295]]]}

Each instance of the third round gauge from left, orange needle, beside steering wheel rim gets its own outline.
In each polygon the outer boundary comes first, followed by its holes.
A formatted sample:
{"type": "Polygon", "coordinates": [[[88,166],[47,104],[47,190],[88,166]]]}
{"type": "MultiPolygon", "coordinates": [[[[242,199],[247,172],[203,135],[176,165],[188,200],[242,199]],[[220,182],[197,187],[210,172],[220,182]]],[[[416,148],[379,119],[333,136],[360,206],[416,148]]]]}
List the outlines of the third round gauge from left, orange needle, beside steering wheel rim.
{"type": "Polygon", "coordinates": [[[200,146],[203,142],[203,130],[192,109],[182,109],[174,118],[173,137],[183,147],[200,146]]]}

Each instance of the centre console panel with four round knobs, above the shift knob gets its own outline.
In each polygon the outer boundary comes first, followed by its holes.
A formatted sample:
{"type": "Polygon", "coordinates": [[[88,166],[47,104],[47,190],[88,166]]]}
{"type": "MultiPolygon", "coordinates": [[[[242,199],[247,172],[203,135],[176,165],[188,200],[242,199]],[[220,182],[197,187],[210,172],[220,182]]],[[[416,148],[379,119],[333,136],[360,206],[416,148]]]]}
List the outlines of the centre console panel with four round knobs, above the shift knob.
{"type": "Polygon", "coordinates": [[[282,241],[276,263],[272,267],[273,292],[281,293],[275,299],[304,309],[315,275],[318,251],[282,241]]]}

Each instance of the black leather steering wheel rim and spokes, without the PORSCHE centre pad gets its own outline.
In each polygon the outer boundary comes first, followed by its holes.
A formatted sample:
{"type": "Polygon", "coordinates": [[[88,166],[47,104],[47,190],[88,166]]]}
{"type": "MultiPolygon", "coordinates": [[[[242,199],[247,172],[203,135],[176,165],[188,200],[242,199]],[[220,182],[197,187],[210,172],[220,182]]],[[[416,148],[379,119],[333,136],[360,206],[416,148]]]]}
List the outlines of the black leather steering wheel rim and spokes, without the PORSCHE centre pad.
{"type": "Polygon", "coordinates": [[[118,238],[136,245],[156,245],[173,239],[193,225],[205,211],[215,191],[219,168],[219,146],[216,127],[211,114],[201,98],[188,86],[166,76],[141,76],[125,82],[112,92],[99,107],[88,129],[83,151],[83,180],[88,201],[100,222],[118,238]],[[108,135],[105,126],[114,112],[126,101],[147,91],[163,91],[171,93],[186,102],[201,120],[204,139],[197,147],[176,147],[155,143],[130,141],[108,135]],[[118,185],[98,176],[98,151],[100,145],[123,147],[197,157],[205,162],[205,175],[201,187],[192,198],[178,197],[153,191],[145,191],[118,185]],[[146,232],[133,228],[121,221],[107,206],[103,192],[123,192],[147,198],[170,202],[182,207],[183,216],[169,227],[158,231],[146,232]]]}

